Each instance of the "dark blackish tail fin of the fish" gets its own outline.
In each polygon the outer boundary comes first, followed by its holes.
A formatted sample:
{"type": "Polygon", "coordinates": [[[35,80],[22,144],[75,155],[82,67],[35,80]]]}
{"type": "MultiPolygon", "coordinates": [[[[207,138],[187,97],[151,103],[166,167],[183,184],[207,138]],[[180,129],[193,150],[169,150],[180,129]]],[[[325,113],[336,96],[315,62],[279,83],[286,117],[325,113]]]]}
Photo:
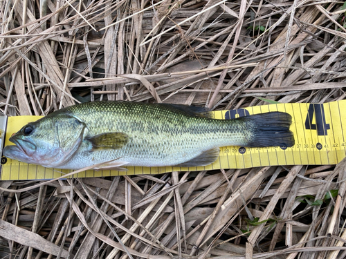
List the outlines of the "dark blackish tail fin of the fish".
{"type": "Polygon", "coordinates": [[[289,130],[292,117],[288,113],[271,112],[242,117],[251,122],[253,137],[246,146],[286,146],[294,145],[293,132],[289,130]]]}

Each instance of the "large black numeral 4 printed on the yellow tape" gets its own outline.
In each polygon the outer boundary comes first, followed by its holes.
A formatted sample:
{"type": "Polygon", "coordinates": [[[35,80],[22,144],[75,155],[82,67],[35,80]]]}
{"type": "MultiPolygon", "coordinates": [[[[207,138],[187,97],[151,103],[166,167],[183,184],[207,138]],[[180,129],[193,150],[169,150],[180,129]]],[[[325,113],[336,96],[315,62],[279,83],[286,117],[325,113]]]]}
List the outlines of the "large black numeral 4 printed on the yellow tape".
{"type": "Polygon", "coordinates": [[[305,120],[305,128],[317,130],[318,135],[328,135],[327,130],[330,129],[329,124],[325,122],[325,108],[323,104],[310,104],[307,111],[307,119],[305,120]],[[315,115],[316,124],[312,123],[313,115],[315,115]]]}

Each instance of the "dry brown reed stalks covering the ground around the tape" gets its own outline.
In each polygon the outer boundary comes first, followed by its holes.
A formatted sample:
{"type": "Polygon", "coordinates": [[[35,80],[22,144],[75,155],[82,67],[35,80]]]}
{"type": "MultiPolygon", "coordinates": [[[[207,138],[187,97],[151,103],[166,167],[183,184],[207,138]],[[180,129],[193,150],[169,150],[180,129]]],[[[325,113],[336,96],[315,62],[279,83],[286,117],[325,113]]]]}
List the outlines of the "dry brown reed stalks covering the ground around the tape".
{"type": "MultiPolygon", "coordinates": [[[[343,4],[1,0],[0,108],[345,99],[343,4]]],[[[341,162],[0,182],[0,257],[345,258],[345,173],[341,162]]]]}

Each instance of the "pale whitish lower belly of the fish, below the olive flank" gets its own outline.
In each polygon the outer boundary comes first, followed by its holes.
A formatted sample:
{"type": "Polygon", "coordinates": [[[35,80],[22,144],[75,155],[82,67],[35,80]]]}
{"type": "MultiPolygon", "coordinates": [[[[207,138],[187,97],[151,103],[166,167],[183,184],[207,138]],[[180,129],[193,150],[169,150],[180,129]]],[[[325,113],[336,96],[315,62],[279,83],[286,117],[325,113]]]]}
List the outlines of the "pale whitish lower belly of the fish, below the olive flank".
{"type": "Polygon", "coordinates": [[[154,137],[152,141],[138,137],[130,137],[130,140],[118,150],[91,151],[90,146],[85,144],[63,166],[66,169],[81,169],[113,160],[125,162],[126,166],[176,166],[193,160],[211,148],[222,146],[213,137],[194,134],[165,134],[154,137]]]}

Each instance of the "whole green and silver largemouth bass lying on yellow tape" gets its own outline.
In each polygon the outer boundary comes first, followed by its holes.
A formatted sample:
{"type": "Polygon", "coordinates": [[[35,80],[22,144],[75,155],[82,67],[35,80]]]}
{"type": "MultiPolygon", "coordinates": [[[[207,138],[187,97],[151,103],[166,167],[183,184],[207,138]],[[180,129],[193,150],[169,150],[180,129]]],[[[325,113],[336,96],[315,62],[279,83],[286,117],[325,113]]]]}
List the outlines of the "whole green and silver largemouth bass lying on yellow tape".
{"type": "Polygon", "coordinates": [[[100,101],[75,104],[30,122],[3,155],[56,169],[206,166],[222,146],[294,145],[288,113],[213,119],[205,108],[100,101]],[[97,166],[100,165],[101,166],[97,166]]]}

